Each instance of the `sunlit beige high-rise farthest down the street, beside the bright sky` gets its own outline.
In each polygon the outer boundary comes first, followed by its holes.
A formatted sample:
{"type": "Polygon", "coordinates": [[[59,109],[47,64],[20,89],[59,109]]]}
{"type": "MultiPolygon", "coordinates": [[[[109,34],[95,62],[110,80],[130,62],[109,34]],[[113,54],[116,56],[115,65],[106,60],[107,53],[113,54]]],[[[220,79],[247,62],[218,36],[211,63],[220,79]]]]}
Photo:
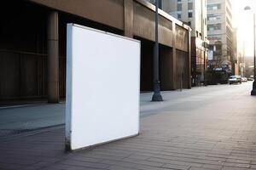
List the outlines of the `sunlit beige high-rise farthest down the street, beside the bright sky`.
{"type": "Polygon", "coordinates": [[[213,59],[209,60],[209,68],[235,74],[233,64],[233,27],[232,6],[230,0],[207,0],[207,30],[213,51],[213,59]],[[232,71],[231,71],[232,70],[232,71]]]}

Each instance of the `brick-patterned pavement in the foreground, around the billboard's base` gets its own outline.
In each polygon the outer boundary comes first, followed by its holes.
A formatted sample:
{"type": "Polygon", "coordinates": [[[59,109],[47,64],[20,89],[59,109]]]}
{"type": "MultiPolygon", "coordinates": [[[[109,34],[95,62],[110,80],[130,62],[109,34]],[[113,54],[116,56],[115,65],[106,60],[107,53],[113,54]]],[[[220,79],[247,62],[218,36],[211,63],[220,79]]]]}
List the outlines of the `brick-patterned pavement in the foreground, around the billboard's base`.
{"type": "Polygon", "coordinates": [[[143,116],[137,137],[88,150],[65,152],[63,126],[5,138],[0,169],[256,169],[256,98],[250,88],[195,88],[175,99],[176,92],[163,93],[166,101],[152,104],[158,109],[143,116]]]}

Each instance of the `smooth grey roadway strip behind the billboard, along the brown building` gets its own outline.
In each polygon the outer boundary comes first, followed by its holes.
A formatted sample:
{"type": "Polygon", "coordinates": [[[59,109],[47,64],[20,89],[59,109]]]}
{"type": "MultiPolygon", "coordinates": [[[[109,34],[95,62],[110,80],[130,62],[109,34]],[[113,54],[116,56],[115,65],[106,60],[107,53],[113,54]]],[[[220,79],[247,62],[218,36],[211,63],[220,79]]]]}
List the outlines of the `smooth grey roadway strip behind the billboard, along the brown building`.
{"type": "MultiPolygon", "coordinates": [[[[203,111],[207,106],[218,105],[221,110],[229,110],[230,99],[240,99],[250,93],[250,82],[242,85],[218,85],[191,90],[162,92],[164,102],[151,102],[152,93],[141,94],[141,116],[148,116],[165,111],[203,111]],[[228,103],[226,103],[228,102],[228,103]],[[203,106],[203,107],[202,107],[203,106]],[[202,108],[201,108],[202,107],[202,108]]],[[[239,101],[243,107],[243,101],[239,101]]],[[[218,108],[215,108],[218,109],[218,108]]],[[[217,111],[216,111],[217,112],[217,111]]],[[[214,113],[217,114],[217,113],[214,113]]],[[[22,133],[38,128],[63,125],[65,122],[65,103],[56,105],[18,105],[0,107],[0,137],[8,134],[22,133]]]]}

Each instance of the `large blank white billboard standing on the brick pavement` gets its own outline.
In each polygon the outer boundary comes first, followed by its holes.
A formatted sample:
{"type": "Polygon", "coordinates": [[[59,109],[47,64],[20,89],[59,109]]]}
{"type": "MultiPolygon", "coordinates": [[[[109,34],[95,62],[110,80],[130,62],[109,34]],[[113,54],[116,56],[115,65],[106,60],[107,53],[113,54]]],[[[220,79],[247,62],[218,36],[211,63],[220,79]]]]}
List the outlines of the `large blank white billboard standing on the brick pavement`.
{"type": "Polygon", "coordinates": [[[67,25],[68,149],[137,135],[139,93],[139,41],[67,25]]]}

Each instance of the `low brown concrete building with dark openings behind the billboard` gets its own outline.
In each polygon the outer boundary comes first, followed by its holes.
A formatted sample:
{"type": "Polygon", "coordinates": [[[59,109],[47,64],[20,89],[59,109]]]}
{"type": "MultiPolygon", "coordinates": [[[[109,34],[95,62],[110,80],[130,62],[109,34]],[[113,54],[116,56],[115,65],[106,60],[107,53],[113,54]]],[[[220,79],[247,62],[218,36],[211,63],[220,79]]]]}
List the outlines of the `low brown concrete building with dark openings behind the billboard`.
{"type": "MultiPolygon", "coordinates": [[[[154,10],[144,0],[3,1],[0,104],[65,98],[67,23],[140,40],[141,90],[153,90],[154,10]]],[[[189,26],[163,11],[159,15],[161,89],[190,88],[189,26]]]]}

